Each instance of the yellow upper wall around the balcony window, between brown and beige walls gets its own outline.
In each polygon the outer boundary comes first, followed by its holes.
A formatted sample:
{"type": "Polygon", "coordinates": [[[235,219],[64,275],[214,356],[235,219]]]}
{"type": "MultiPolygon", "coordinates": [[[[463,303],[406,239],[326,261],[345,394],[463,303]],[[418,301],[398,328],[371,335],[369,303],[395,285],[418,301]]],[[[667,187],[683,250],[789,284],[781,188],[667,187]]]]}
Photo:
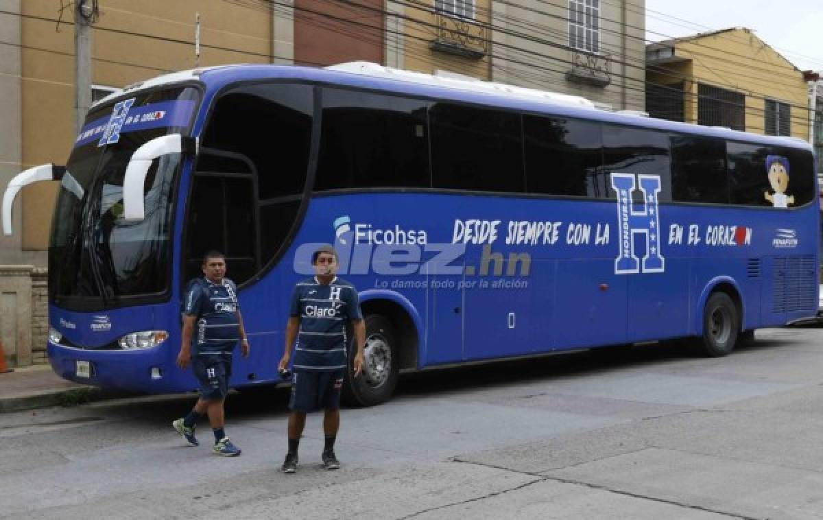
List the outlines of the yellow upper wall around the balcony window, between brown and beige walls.
{"type": "MultiPolygon", "coordinates": [[[[486,43],[486,55],[482,58],[465,58],[430,48],[431,42],[438,37],[439,16],[435,15],[434,3],[433,0],[411,0],[404,8],[407,19],[402,25],[402,68],[425,74],[444,70],[489,80],[491,77],[490,44],[486,43]]],[[[445,34],[470,35],[469,38],[463,39],[462,43],[471,49],[481,49],[482,45],[478,35],[485,35],[486,41],[491,41],[491,35],[482,27],[489,25],[490,12],[490,0],[476,0],[475,21],[477,23],[465,21],[460,25],[454,25],[452,21],[445,21],[445,34]]]]}

